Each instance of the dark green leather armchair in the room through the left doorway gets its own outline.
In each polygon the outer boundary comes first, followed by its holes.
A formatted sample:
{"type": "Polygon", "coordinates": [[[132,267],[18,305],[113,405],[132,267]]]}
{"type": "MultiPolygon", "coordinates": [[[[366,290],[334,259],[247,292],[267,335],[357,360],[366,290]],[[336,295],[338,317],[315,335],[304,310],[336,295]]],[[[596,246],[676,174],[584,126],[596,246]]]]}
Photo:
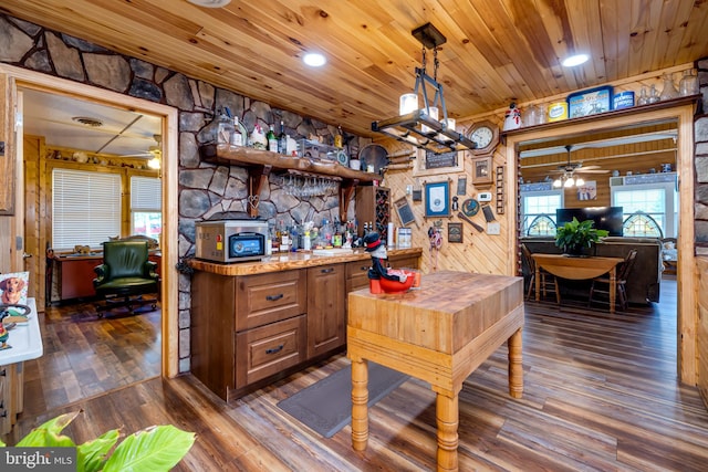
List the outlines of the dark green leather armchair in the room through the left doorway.
{"type": "Polygon", "coordinates": [[[135,313],[135,306],[152,305],[157,308],[159,301],[159,275],[157,264],[148,260],[146,241],[106,241],[103,243],[103,264],[94,268],[96,279],[93,286],[96,295],[103,296],[105,305],[96,306],[98,317],[104,311],[127,306],[135,313]],[[143,295],[156,294],[144,298],[143,295]]]}

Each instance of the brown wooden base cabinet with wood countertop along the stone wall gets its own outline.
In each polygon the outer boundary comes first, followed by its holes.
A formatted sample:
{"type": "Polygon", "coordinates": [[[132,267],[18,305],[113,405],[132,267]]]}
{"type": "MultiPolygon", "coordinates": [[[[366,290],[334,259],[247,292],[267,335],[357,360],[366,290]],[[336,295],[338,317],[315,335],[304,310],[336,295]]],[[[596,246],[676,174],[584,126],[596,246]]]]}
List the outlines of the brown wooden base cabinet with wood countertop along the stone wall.
{"type": "MultiPolygon", "coordinates": [[[[420,248],[389,250],[418,268],[420,248]]],[[[191,260],[191,373],[226,401],[346,347],[346,294],[368,287],[367,252],[191,260]]]]}

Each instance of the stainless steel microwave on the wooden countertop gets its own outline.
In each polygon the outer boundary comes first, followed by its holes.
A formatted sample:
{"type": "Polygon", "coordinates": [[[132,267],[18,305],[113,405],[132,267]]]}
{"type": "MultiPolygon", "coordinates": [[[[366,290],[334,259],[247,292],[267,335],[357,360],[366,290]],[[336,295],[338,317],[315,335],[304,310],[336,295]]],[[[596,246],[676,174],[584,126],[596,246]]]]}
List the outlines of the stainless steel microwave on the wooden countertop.
{"type": "Polygon", "coordinates": [[[270,255],[267,221],[200,221],[196,223],[196,230],[197,259],[232,263],[270,255]]]}

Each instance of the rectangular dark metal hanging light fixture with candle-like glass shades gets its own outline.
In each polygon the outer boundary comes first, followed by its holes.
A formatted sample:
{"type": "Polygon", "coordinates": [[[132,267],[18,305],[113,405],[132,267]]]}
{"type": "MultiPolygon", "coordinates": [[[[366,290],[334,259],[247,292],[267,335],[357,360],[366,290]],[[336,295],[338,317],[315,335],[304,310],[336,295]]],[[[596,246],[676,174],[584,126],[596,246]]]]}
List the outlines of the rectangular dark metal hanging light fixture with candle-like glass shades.
{"type": "Polygon", "coordinates": [[[412,34],[423,44],[421,66],[416,67],[413,93],[400,96],[398,116],[373,122],[372,130],[435,154],[475,149],[475,143],[457,133],[455,122],[448,118],[442,84],[437,80],[438,48],[445,44],[447,39],[431,23],[416,28],[412,34]],[[433,76],[426,72],[426,49],[433,50],[433,76]],[[433,96],[428,92],[434,92],[433,96]],[[418,97],[423,97],[420,107],[418,97]]]}

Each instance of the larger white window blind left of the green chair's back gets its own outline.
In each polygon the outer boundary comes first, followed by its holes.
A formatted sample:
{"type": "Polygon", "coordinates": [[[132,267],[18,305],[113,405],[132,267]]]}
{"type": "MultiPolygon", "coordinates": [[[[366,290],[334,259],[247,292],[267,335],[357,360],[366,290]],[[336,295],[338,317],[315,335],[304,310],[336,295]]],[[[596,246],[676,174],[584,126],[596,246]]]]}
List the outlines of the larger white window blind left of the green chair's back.
{"type": "Polygon", "coordinates": [[[52,248],[100,248],[121,234],[121,176],[54,169],[52,172],[52,248]]]}

